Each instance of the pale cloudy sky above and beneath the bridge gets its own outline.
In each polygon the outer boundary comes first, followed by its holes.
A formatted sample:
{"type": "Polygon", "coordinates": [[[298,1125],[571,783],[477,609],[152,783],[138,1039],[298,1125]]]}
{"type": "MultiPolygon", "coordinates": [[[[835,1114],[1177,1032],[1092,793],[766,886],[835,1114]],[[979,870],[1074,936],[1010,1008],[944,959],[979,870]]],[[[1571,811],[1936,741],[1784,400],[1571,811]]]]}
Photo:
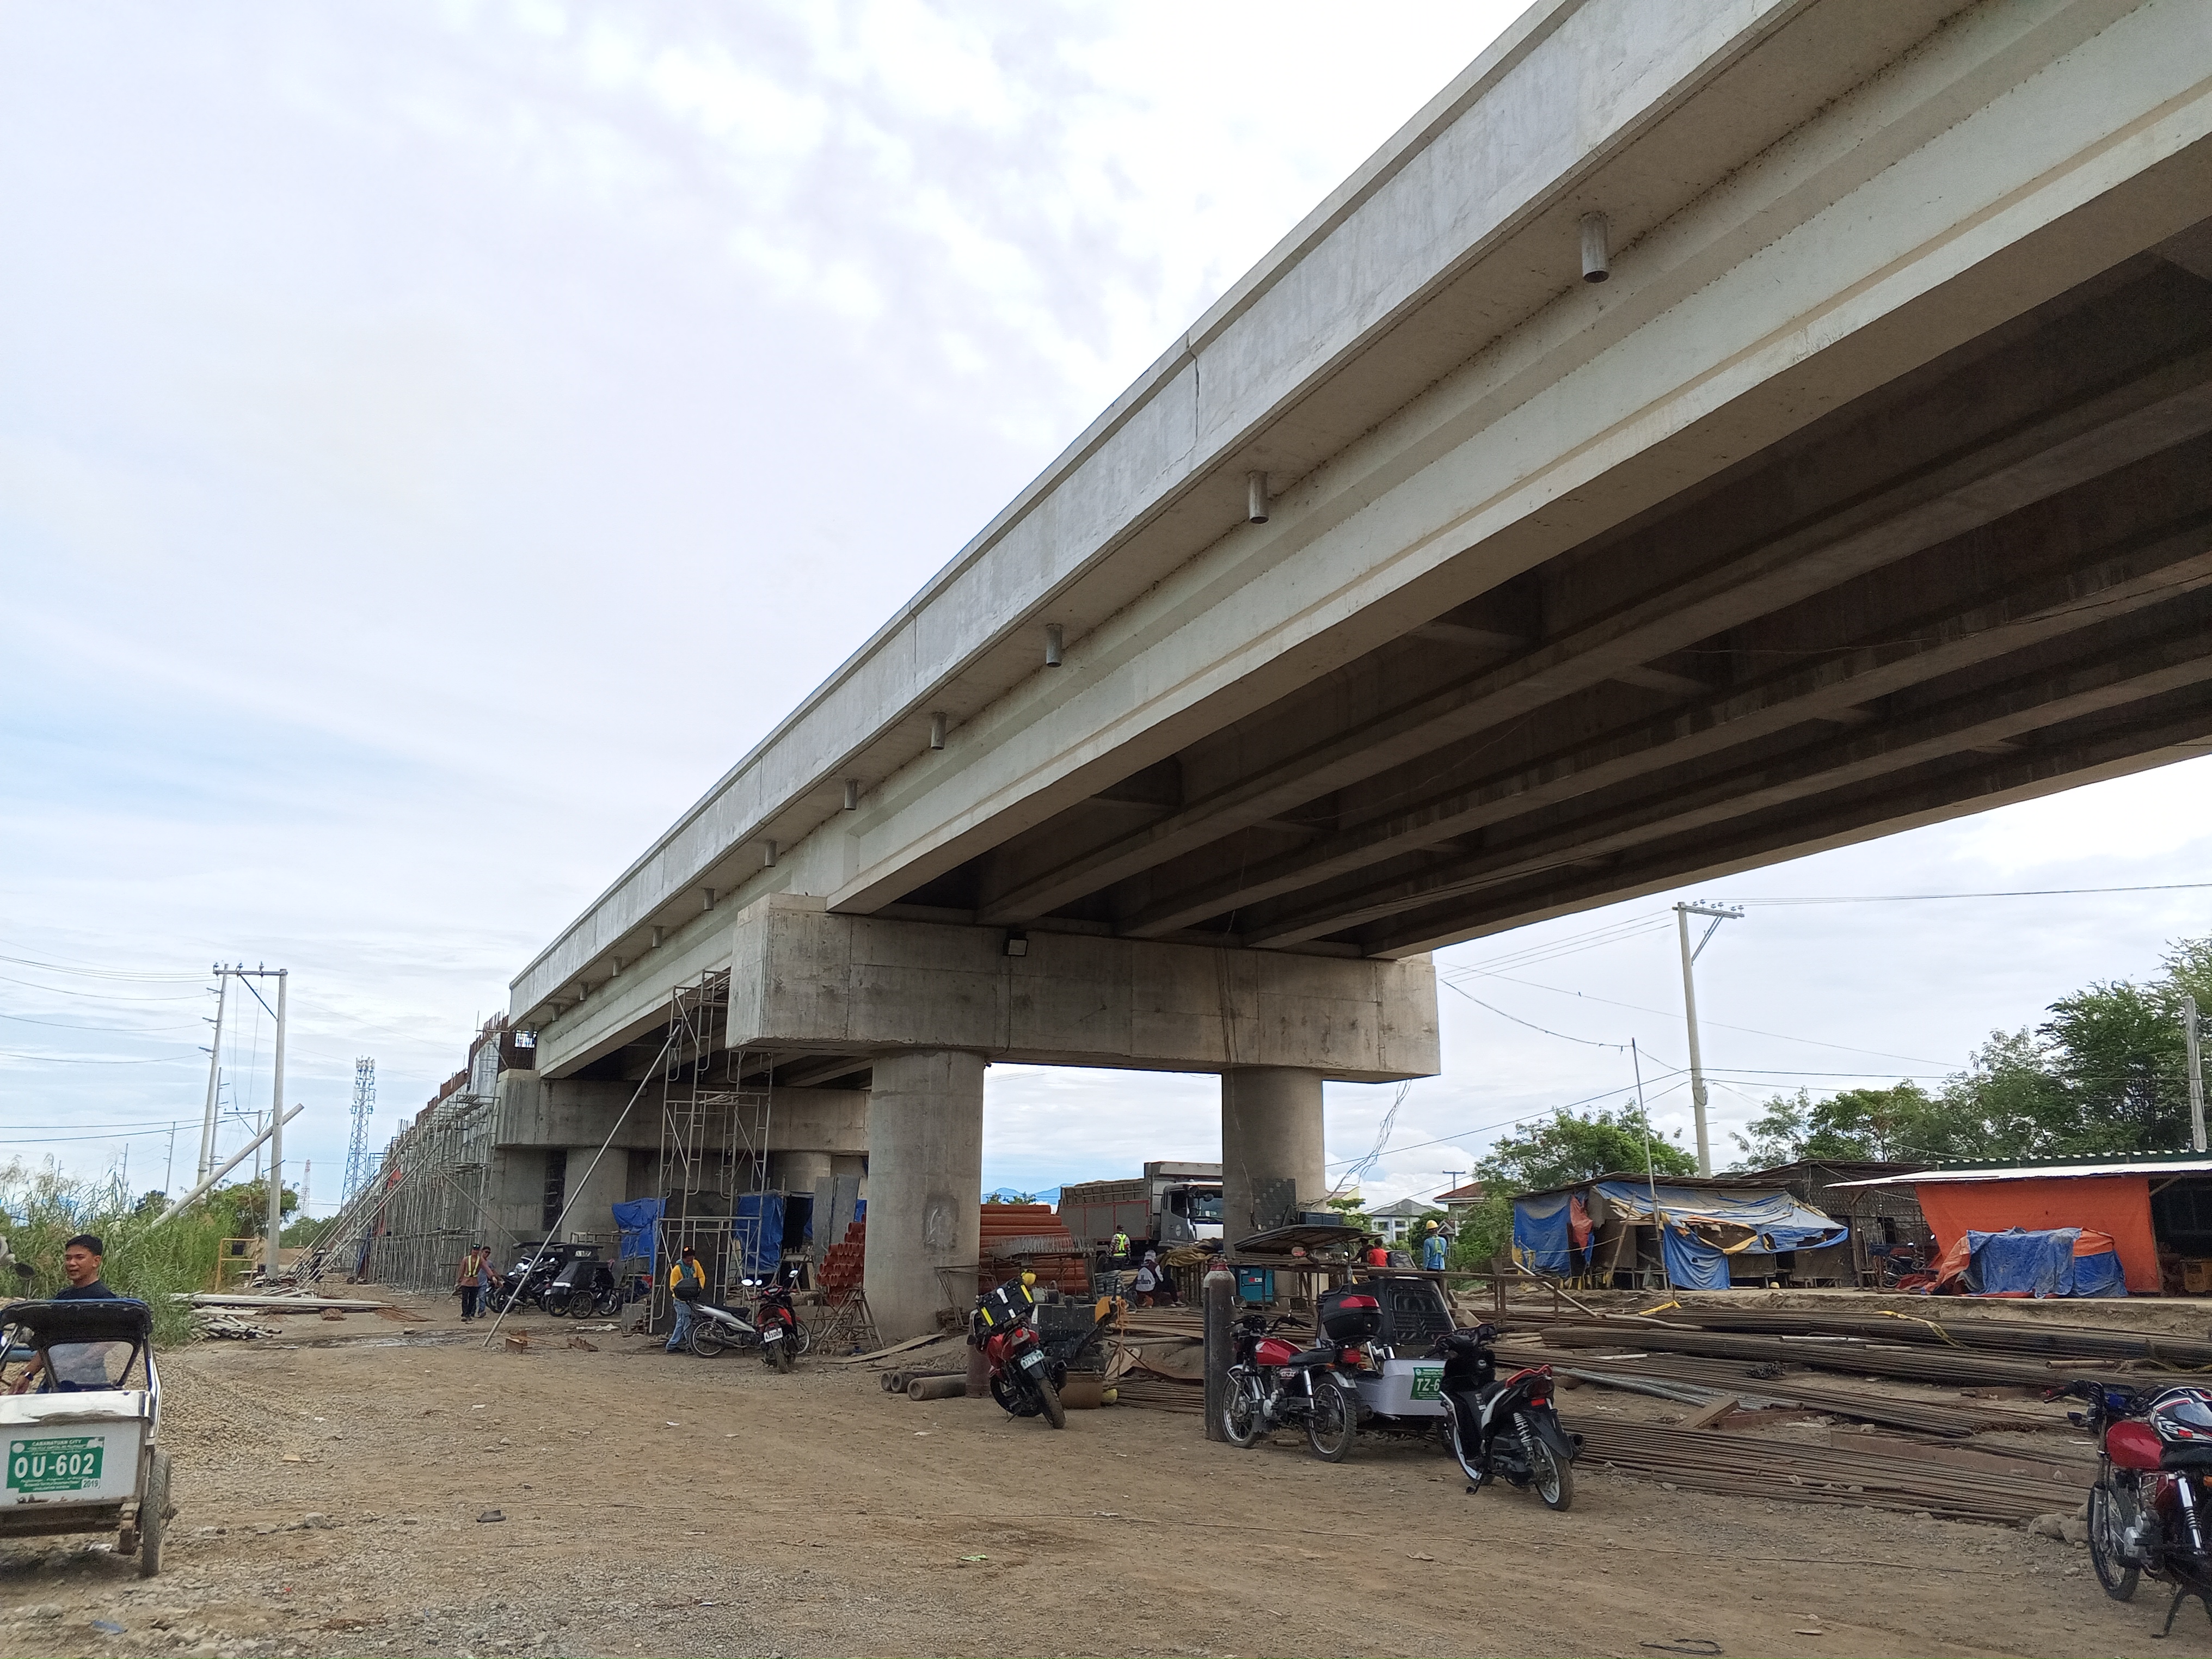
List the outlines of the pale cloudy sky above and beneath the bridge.
{"type": "MultiPolygon", "coordinates": [[[[1513,13],[0,0],[0,1161],[173,1186],[206,969],[265,962],[327,1212],[354,1060],[378,1146],[1513,13]]],[[[1774,1088],[1940,1077],[2212,933],[2208,807],[2197,761],[1686,894],[1747,905],[1697,967],[1721,1161],[1774,1088]],[[2081,887],[2166,891],[1761,902],[2081,887]]],[[[1674,898],[1444,951],[1444,1073],[1332,1086],[1332,1175],[1396,1104],[1356,1179],[1433,1192],[1630,1040],[1681,1130],[1674,898]]],[[[1217,1093],[998,1066],[984,1181],[1217,1157],[1217,1093]]]]}

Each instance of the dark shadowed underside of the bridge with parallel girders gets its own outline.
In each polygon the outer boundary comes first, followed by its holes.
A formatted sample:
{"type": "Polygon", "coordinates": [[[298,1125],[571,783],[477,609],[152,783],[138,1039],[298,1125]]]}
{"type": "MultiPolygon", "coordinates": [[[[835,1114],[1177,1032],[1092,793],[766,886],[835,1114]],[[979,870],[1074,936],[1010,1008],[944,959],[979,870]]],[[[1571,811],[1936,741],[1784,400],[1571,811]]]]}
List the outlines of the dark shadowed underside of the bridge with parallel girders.
{"type": "Polygon", "coordinates": [[[2201,752],[2208,588],[2199,226],[896,914],[1427,951],[2201,752]]]}

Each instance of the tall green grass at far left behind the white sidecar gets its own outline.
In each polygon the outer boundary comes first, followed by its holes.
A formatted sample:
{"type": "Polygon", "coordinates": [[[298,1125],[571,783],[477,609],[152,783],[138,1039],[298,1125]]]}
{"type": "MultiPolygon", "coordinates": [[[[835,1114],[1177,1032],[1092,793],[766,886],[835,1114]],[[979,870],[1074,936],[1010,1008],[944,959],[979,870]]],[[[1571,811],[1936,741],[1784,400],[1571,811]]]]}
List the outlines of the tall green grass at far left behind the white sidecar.
{"type": "MultiPolygon", "coordinates": [[[[122,1181],[84,1181],[53,1164],[22,1159],[0,1166],[0,1239],[18,1261],[31,1263],[22,1294],[51,1296],[62,1276],[62,1245],[91,1232],[106,1245],[102,1279],[117,1296],[137,1296],[153,1307],[155,1347],[192,1336],[192,1310],[170,1301],[175,1292],[206,1290],[215,1279],[215,1254],[241,1225],[241,1203],[254,1197],[241,1188],[217,1188],[168,1225],[155,1228],[166,1201],[157,1194],[133,1199],[122,1181]]],[[[15,1276],[9,1274],[13,1281],[15,1276]]],[[[20,1281],[18,1281],[20,1283],[20,1281]]],[[[15,1292],[15,1283],[0,1283],[15,1292]]]]}

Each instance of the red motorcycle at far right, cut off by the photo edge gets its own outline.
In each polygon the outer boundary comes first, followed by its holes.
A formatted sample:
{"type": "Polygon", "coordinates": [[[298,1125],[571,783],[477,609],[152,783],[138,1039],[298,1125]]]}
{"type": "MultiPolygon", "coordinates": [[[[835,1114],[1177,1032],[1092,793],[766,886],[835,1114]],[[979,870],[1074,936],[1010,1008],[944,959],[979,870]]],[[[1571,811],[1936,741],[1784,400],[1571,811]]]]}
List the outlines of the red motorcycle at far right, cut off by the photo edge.
{"type": "Polygon", "coordinates": [[[2192,1595],[2212,1615],[2212,1389],[2141,1391],[2068,1383],[2046,1398],[2088,1402],[2066,1420],[2097,1436],[2097,1484],[2088,1489],[2088,1559],[2097,1584],[2128,1601],[2148,1575],[2174,1586],[2166,1630],[2192,1595]]]}

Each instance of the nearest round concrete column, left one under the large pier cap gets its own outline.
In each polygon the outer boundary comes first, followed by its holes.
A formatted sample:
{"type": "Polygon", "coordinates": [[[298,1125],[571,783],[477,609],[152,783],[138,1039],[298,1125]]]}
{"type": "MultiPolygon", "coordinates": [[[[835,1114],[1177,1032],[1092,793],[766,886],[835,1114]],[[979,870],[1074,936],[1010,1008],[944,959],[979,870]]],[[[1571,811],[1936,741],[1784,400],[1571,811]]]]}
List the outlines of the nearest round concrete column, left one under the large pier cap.
{"type": "Polygon", "coordinates": [[[885,1343],[936,1329],[975,1294],[982,1232],[982,1055],[876,1062],[867,1099],[867,1305],[885,1343]],[[958,1274],[938,1274],[960,1267],[958,1274]]]}

